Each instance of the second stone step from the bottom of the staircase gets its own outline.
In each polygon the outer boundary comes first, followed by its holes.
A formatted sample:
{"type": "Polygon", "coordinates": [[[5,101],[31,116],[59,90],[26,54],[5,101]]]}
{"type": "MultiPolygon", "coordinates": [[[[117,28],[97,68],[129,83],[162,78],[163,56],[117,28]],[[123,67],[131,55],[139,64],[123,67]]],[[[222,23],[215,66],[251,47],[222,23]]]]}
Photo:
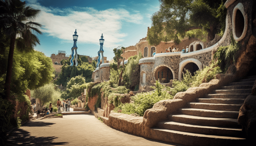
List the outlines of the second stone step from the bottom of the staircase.
{"type": "Polygon", "coordinates": [[[207,135],[218,135],[218,136],[231,136],[244,138],[241,128],[223,128],[223,127],[210,127],[210,126],[199,126],[184,123],[177,123],[172,121],[159,122],[157,128],[175,130],[181,132],[191,132],[207,135]]]}

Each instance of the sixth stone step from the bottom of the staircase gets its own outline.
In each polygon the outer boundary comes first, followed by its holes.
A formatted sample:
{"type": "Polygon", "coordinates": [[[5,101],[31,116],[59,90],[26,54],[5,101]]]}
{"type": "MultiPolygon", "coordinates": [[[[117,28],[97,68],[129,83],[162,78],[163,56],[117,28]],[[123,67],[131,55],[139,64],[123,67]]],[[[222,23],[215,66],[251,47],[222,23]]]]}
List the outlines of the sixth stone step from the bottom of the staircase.
{"type": "Polygon", "coordinates": [[[243,104],[245,99],[196,98],[199,103],[243,104]]]}

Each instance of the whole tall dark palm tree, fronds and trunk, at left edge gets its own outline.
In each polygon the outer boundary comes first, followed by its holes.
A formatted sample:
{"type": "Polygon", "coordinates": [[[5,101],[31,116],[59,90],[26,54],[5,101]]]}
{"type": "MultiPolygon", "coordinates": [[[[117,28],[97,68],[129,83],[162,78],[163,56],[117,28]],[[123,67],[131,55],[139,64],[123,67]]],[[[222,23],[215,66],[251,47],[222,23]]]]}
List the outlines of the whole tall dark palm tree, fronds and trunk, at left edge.
{"type": "Polygon", "coordinates": [[[34,47],[40,44],[34,34],[42,34],[36,27],[42,25],[33,22],[40,10],[26,6],[20,0],[0,0],[0,27],[5,30],[10,39],[10,50],[5,78],[5,99],[9,99],[11,91],[11,76],[14,48],[21,53],[31,53],[34,47]]]}

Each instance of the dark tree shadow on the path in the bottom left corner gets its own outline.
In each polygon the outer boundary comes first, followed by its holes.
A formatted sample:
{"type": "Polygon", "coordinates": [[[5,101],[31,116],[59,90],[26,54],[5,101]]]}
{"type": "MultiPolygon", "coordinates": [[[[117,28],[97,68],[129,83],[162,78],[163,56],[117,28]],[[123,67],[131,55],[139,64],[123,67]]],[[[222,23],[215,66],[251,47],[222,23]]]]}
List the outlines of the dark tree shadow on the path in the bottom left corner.
{"type": "Polygon", "coordinates": [[[58,137],[54,136],[48,136],[48,137],[36,137],[31,136],[29,132],[17,129],[13,131],[8,139],[7,139],[7,146],[53,146],[53,145],[65,145],[68,144],[68,142],[53,142],[53,140],[58,137]]]}

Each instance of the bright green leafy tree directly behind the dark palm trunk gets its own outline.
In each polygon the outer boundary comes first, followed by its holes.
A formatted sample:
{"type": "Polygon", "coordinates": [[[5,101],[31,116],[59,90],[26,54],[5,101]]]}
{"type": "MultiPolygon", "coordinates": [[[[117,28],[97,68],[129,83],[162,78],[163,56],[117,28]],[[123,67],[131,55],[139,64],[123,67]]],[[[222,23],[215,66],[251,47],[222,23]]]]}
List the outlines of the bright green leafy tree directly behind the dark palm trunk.
{"type": "MultiPolygon", "coordinates": [[[[0,55],[0,77],[5,78],[9,47],[3,48],[3,50],[3,54],[0,55]]],[[[49,83],[54,77],[54,70],[51,58],[45,56],[44,53],[34,51],[34,53],[25,55],[14,51],[11,78],[12,93],[23,94],[27,89],[33,90],[49,83]]],[[[2,79],[2,81],[4,80],[2,79]]]]}

